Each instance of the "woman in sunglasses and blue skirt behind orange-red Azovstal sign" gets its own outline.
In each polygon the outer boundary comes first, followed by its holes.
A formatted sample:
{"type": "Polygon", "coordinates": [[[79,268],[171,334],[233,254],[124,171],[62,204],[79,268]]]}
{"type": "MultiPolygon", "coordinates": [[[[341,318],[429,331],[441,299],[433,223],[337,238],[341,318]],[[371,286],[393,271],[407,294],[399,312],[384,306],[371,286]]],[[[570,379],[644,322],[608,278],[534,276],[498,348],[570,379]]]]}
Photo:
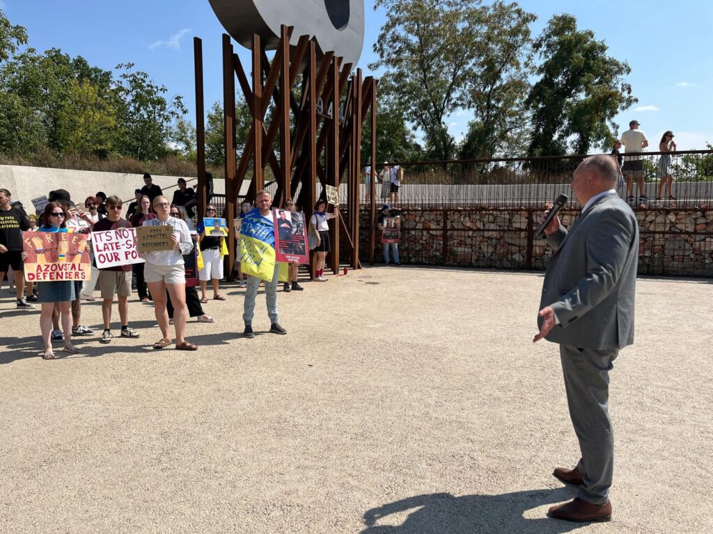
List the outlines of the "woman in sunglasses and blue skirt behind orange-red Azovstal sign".
{"type": "MultiPolygon", "coordinates": [[[[58,202],[50,202],[45,207],[42,215],[42,224],[38,231],[41,232],[66,232],[67,231],[67,212],[58,202]]],[[[23,252],[24,258],[27,253],[23,252]]],[[[42,340],[44,342],[43,360],[53,360],[55,358],[52,350],[52,312],[55,304],[59,308],[59,313],[62,322],[62,331],[64,333],[64,350],[70,354],[76,354],[79,349],[72,345],[72,309],[71,303],[76,299],[74,293],[73,281],[56,281],[56,282],[39,282],[38,286],[38,301],[42,305],[40,313],[40,330],[42,340]]]]}

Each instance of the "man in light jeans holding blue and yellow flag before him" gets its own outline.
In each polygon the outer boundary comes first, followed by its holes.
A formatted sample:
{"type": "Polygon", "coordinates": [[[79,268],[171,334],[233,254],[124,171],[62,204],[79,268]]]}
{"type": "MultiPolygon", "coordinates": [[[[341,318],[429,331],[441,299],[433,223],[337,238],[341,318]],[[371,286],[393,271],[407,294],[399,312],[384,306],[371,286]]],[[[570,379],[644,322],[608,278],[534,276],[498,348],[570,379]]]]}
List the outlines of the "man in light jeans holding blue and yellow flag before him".
{"type": "Polygon", "coordinates": [[[275,223],[272,221],[272,196],[269,192],[257,192],[257,208],[249,211],[240,226],[240,268],[247,275],[245,308],[242,320],[245,321],[245,337],[255,337],[252,330],[252,317],[255,315],[255,297],[260,281],[265,281],[265,299],[267,315],[270,316],[270,332],[287,334],[277,322],[277,282],[279,264],[275,261],[275,223]]]}

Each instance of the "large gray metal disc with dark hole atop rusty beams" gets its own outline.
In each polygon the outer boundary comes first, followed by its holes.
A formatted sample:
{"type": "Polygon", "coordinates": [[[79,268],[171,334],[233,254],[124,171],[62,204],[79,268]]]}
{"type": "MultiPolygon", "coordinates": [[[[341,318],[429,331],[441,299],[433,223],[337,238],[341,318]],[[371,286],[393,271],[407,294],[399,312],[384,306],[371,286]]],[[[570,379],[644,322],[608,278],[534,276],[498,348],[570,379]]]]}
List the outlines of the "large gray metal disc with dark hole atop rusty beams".
{"type": "Polygon", "coordinates": [[[257,33],[267,49],[279,42],[281,24],[294,26],[291,45],[309,35],[322,53],[359,63],[364,48],[364,0],[208,0],[227,33],[246,48],[257,33]]]}

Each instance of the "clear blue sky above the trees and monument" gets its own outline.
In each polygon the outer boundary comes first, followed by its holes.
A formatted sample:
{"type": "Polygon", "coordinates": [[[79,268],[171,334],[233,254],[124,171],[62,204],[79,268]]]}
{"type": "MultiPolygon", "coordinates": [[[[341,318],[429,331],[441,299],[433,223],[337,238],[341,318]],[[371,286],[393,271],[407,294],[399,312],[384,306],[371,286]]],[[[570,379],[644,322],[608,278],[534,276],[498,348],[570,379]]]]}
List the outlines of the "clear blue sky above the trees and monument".
{"type": "MultiPolygon", "coordinates": [[[[262,0],[265,1],[265,0],[262,0]]],[[[580,28],[606,41],[610,55],[632,68],[629,82],[639,103],[617,117],[641,122],[652,145],[665,130],[673,130],[679,150],[704,149],[713,143],[713,2],[708,0],[521,0],[538,16],[538,35],[554,14],[570,13],[580,28]]],[[[222,100],[220,38],[223,32],[207,0],[0,0],[14,24],[27,28],[31,46],[56,47],[83,56],[108,70],[132,62],[169,89],[185,97],[195,122],[193,36],[203,40],[205,105],[222,100]]],[[[367,74],[374,61],[371,46],[384,22],[384,12],[366,0],[366,38],[360,67],[367,74]]],[[[245,64],[247,51],[235,45],[245,64]]],[[[378,75],[378,73],[376,73],[378,75]]],[[[469,115],[448,119],[460,138],[469,115]]],[[[626,127],[624,128],[626,129],[626,127]]]]}

